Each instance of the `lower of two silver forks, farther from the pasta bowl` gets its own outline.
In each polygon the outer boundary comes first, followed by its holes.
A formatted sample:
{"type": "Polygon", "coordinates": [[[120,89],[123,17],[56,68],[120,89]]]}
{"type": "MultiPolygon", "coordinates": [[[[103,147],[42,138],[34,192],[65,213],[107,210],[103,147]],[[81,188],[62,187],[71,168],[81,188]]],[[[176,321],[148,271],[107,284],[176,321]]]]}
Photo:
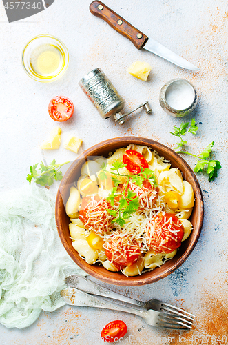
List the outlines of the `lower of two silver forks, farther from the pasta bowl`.
{"type": "Polygon", "coordinates": [[[99,299],[94,295],[84,293],[76,288],[65,288],[61,290],[61,296],[67,304],[71,306],[92,306],[95,308],[112,309],[114,311],[124,311],[142,317],[145,322],[151,326],[160,328],[175,329],[188,331],[191,326],[185,322],[180,322],[179,317],[169,313],[160,313],[152,309],[141,310],[137,308],[130,308],[121,306],[119,304],[107,302],[104,299],[99,299]]]}

